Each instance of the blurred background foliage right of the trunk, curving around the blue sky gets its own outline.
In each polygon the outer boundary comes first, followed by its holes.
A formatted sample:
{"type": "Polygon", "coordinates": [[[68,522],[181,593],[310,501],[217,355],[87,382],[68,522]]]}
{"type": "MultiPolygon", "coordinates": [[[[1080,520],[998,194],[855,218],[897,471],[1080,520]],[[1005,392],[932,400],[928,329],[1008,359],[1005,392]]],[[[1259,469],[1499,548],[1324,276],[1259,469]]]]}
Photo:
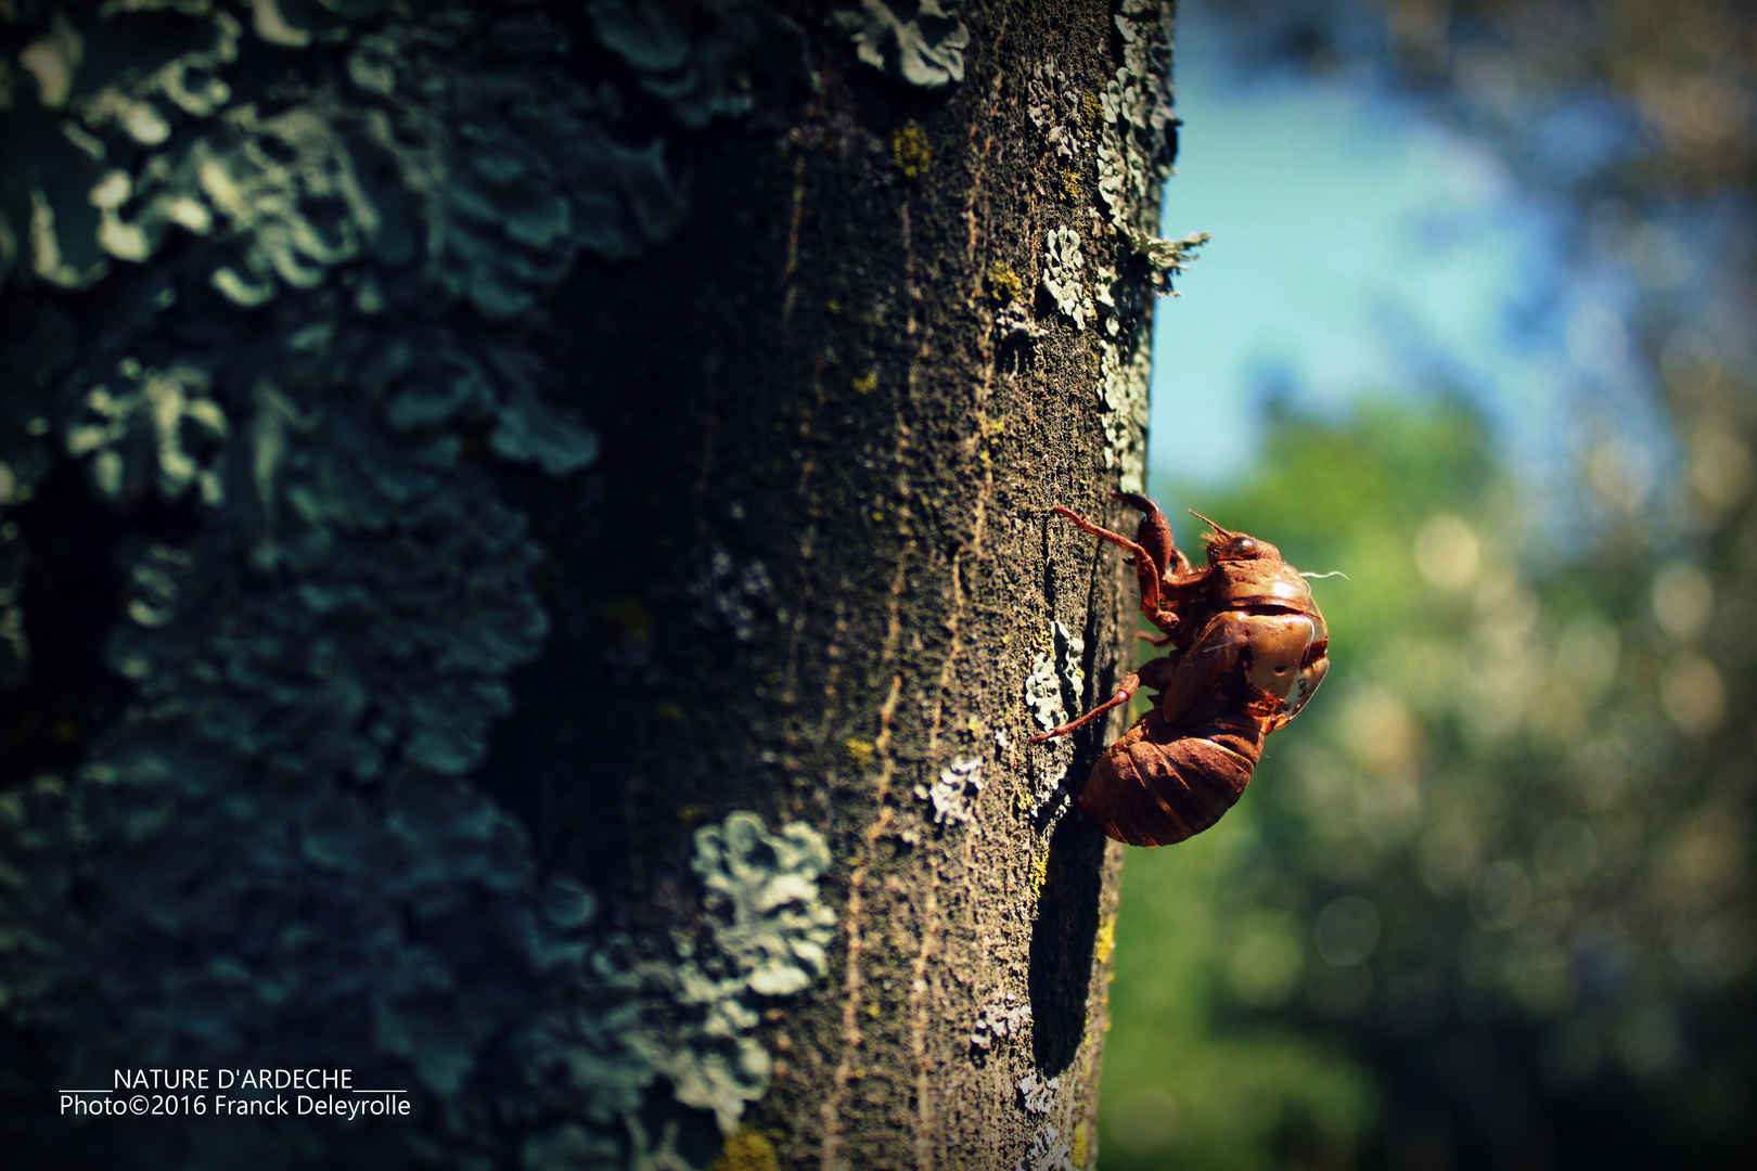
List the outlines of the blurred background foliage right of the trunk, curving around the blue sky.
{"type": "Polygon", "coordinates": [[[1130,857],[1102,1166],[1743,1166],[1757,16],[1225,19],[1258,65],[1370,77],[1465,130],[1565,221],[1562,288],[1522,327],[1569,335],[1576,474],[1536,499],[1469,411],[1414,399],[1272,413],[1256,479],[1189,500],[1349,579],[1314,583],[1328,681],[1239,808],[1130,857]],[[1616,290],[1615,344],[1553,320],[1573,281],[1616,290]],[[1673,434],[1632,434],[1608,367],[1673,434]]]}

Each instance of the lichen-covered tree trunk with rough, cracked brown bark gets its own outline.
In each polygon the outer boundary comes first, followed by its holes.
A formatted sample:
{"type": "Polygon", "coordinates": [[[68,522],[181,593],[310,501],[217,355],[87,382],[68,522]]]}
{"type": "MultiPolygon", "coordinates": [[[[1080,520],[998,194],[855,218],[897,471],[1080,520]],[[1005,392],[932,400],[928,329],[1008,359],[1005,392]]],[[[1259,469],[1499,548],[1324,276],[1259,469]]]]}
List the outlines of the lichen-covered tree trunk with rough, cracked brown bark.
{"type": "Polygon", "coordinates": [[[1093,1166],[1168,7],[0,32],[0,1141],[1093,1166]]]}

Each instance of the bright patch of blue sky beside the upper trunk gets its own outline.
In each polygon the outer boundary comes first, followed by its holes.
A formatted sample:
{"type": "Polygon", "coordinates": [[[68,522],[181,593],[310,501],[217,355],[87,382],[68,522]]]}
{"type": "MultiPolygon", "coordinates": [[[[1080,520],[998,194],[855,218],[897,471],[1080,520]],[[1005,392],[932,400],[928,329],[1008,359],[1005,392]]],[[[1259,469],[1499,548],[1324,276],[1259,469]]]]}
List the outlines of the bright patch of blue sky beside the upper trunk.
{"type": "Polygon", "coordinates": [[[1197,5],[1177,33],[1160,230],[1214,239],[1156,311],[1154,478],[1235,483],[1270,386],[1325,414],[1450,384],[1536,481],[1571,471],[1583,402],[1609,428],[1659,423],[1618,283],[1560,279],[1567,225],[1486,147],[1358,75],[1246,75],[1197,5]]]}

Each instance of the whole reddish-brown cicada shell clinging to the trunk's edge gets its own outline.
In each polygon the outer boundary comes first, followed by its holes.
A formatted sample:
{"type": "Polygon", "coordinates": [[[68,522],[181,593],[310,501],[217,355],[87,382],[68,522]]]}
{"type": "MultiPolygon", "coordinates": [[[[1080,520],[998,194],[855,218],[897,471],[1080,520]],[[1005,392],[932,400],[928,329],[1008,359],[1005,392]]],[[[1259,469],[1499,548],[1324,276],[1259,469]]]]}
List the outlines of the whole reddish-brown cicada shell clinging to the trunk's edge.
{"type": "Polygon", "coordinates": [[[1054,513],[1133,553],[1140,613],[1165,632],[1153,644],[1172,651],[1126,676],[1103,704],[1031,743],[1102,718],[1142,685],[1160,692],[1098,758],[1077,802],[1110,837],[1163,846],[1200,834],[1239,801],[1263,757],[1263,737],[1297,716],[1323,683],[1330,632],[1311,586],[1276,546],[1193,513],[1214,530],[1204,534],[1207,565],[1197,569],[1179,553],[1158,504],[1135,493],[1114,497],[1142,513],[1133,541],[1070,509],[1054,513]]]}

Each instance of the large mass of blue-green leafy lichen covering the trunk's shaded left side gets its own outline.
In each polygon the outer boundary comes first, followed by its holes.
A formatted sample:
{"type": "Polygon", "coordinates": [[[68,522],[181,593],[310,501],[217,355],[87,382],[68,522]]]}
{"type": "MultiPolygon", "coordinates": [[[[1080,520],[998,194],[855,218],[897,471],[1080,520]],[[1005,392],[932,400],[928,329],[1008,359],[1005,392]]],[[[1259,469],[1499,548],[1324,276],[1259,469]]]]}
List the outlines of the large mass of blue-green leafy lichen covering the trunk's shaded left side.
{"type": "MultiPolygon", "coordinates": [[[[0,506],[144,518],[100,551],[121,597],[91,658],[125,699],[69,767],[0,783],[0,1015],[60,1067],[369,1071],[416,1101],[390,1166],[685,1166],[683,1122],[733,1127],[766,1088],[757,1009],[824,971],[822,839],[708,827],[717,927],[661,955],[471,779],[550,621],[506,465],[599,455],[576,379],[508,320],[582,256],[669,239],[668,135],[801,67],[798,39],[757,53],[768,5],[659,16],[662,60],[534,5],[0,5],[25,46],[0,506]]],[[[28,688],[26,569],[0,516],[0,685],[28,688]]],[[[761,564],[706,579],[734,634],[768,613],[761,564]]],[[[19,1076],[7,1101],[40,1088],[19,1076]]],[[[358,1150],[325,1134],[299,1159],[358,1150]]]]}

